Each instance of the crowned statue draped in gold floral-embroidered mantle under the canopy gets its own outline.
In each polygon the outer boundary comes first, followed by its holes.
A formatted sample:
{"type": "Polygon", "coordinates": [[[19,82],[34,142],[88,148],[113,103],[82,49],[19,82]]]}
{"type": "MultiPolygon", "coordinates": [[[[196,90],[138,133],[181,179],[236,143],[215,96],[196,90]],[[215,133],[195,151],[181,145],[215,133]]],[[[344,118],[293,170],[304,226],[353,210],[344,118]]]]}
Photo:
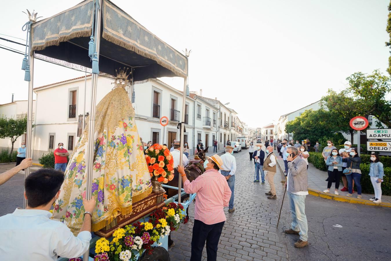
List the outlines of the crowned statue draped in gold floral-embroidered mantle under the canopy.
{"type": "MultiPolygon", "coordinates": [[[[118,214],[131,213],[132,203],[152,191],[135,111],[125,86],[127,74],[121,71],[115,78],[115,88],[96,107],[95,161],[91,180],[97,208],[92,213],[93,231],[108,225],[118,214]]],[[[63,221],[75,233],[83,223],[88,128],[89,125],[70,157],[53,212],[54,219],[63,221]]]]}

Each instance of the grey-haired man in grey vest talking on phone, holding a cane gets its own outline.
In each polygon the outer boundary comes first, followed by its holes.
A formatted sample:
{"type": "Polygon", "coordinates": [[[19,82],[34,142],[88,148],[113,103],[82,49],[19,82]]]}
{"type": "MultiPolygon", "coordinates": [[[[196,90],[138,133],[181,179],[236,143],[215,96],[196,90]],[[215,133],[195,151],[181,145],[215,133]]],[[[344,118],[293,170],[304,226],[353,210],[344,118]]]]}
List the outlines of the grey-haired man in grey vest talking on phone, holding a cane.
{"type": "Polygon", "coordinates": [[[286,149],[288,161],[288,177],[285,186],[288,190],[289,205],[291,207],[291,228],[286,234],[300,235],[294,247],[308,246],[308,223],[305,215],[305,197],[308,195],[307,163],[298,157],[298,150],[294,146],[286,149]]]}

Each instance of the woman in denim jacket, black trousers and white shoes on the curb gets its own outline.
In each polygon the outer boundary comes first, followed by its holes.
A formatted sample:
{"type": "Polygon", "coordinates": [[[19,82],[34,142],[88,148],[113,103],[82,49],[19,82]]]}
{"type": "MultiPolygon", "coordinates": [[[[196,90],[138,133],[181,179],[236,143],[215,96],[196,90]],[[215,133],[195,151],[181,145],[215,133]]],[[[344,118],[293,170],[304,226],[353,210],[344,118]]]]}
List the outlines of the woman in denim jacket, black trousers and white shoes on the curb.
{"type": "Polygon", "coordinates": [[[333,180],[335,180],[335,195],[339,195],[339,180],[342,175],[342,157],[338,155],[338,149],[333,149],[331,151],[331,155],[327,157],[326,165],[328,166],[328,182],[327,189],[325,189],[324,193],[329,193],[333,180]]]}

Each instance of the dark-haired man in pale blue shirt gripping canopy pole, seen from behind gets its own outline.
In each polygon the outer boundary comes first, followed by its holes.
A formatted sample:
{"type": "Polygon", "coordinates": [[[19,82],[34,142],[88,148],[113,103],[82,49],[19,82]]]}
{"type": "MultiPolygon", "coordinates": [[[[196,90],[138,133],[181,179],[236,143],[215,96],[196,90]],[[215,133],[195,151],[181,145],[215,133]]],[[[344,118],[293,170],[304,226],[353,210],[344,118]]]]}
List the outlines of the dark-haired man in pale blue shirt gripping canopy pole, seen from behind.
{"type": "Polygon", "coordinates": [[[0,259],[57,260],[80,257],[90,248],[91,213],[95,199],[83,199],[83,225],[77,237],[49,212],[60,193],[64,173],[39,169],[25,180],[27,208],[0,217],[0,259]]]}

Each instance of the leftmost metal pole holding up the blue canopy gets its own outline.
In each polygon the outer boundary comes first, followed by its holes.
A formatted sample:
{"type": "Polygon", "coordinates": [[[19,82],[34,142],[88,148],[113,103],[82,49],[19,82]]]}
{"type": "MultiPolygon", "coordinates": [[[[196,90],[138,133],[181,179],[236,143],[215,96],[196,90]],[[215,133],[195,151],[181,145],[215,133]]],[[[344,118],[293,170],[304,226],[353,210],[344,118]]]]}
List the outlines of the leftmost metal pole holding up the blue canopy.
{"type": "MultiPolygon", "coordinates": [[[[31,41],[29,43],[31,46],[31,41]]],[[[34,80],[34,52],[30,52],[30,81],[29,81],[29,96],[27,100],[27,130],[26,130],[26,158],[32,156],[32,94],[33,94],[33,80],[34,80]]],[[[25,179],[30,175],[30,167],[25,170],[25,179]]],[[[27,199],[23,197],[23,208],[27,207],[27,199]]]]}

